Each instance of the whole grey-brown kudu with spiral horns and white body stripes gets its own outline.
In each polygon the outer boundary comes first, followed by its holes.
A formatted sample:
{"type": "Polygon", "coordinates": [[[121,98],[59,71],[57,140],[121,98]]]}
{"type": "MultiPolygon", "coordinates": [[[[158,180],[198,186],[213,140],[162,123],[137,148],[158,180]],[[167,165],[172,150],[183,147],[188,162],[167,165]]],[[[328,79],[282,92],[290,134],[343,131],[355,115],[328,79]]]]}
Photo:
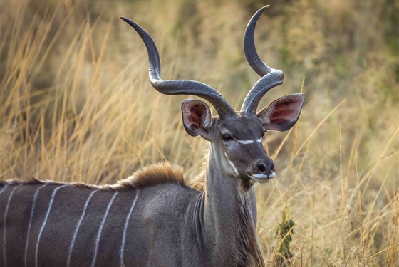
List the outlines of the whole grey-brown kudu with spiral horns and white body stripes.
{"type": "Polygon", "coordinates": [[[222,95],[193,80],[162,80],[154,41],[121,18],[147,47],[152,86],[185,100],[189,135],[210,142],[204,190],[185,185],[168,164],[145,167],[117,184],[0,182],[1,266],[264,266],[257,243],[254,182],[275,176],[262,145],[266,130],[284,131],[298,120],[302,94],[286,95],[257,112],[264,94],[283,80],[254,46],[263,7],[249,21],[244,51],[261,79],[239,112],[222,95]]]}

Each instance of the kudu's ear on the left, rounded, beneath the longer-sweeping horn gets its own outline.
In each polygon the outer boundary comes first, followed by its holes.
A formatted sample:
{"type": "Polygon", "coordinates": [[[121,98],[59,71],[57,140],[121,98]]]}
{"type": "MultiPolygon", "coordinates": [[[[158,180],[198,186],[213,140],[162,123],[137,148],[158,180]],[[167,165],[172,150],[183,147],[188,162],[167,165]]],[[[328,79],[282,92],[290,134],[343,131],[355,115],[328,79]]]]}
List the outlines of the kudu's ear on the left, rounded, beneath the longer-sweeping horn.
{"type": "Polygon", "coordinates": [[[212,126],[209,106],[196,99],[187,99],[182,103],[183,125],[191,136],[207,135],[212,126]]]}

